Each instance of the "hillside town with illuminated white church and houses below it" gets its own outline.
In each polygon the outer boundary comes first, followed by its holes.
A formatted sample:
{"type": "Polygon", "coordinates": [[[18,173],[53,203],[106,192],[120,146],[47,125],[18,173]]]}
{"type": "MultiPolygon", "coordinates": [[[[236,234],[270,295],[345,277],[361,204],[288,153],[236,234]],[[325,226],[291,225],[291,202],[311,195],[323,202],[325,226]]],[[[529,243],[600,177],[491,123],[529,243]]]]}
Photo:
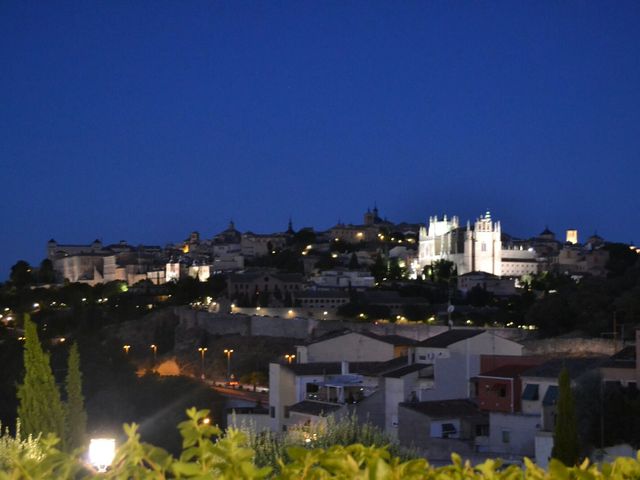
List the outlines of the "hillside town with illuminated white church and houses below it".
{"type": "Polygon", "coordinates": [[[50,331],[56,315],[89,329],[100,318],[141,372],[217,389],[228,425],[282,432],[355,415],[430,459],[544,466],[563,368],[584,448],[640,441],[620,421],[639,413],[638,253],[575,229],[515,238],[490,212],[411,224],[377,208],[326,231],[230,222],[164,247],[52,239],[39,268],[14,266],[2,320],[18,335],[21,310],[50,331]]]}

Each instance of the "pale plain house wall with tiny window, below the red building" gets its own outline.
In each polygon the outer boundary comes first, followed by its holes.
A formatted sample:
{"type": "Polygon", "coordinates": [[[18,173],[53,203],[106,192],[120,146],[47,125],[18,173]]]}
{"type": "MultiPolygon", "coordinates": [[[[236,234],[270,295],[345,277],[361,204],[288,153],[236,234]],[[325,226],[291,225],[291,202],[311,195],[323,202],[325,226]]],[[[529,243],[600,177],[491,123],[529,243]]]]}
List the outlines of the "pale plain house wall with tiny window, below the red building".
{"type": "Polygon", "coordinates": [[[499,455],[535,454],[535,434],[540,427],[540,415],[491,412],[489,414],[489,451],[499,455]],[[505,442],[503,432],[508,433],[505,442]]]}

